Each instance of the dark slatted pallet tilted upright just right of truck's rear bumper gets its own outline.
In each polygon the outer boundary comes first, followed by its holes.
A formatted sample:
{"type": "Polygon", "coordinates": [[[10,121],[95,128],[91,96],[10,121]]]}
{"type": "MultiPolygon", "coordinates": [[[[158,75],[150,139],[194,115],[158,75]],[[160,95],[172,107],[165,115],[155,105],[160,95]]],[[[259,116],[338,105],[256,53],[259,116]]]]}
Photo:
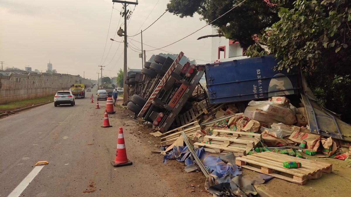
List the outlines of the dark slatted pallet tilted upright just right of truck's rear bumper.
{"type": "Polygon", "coordinates": [[[186,111],[184,114],[176,116],[176,123],[178,125],[184,125],[192,122],[202,114],[207,114],[207,110],[203,103],[198,103],[196,106],[186,111]]]}

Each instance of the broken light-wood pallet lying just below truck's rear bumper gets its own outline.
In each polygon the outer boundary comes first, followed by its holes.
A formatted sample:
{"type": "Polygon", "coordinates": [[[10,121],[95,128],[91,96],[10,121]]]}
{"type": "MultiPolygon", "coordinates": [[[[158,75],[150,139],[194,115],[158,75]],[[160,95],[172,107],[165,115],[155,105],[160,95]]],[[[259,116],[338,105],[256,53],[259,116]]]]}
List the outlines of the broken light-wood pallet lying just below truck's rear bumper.
{"type": "Polygon", "coordinates": [[[178,137],[181,136],[182,131],[184,131],[186,136],[190,137],[193,133],[199,130],[201,130],[200,125],[197,121],[194,121],[179,128],[167,131],[166,133],[161,135],[161,147],[173,144],[173,142],[175,142],[178,139],[178,137]]]}

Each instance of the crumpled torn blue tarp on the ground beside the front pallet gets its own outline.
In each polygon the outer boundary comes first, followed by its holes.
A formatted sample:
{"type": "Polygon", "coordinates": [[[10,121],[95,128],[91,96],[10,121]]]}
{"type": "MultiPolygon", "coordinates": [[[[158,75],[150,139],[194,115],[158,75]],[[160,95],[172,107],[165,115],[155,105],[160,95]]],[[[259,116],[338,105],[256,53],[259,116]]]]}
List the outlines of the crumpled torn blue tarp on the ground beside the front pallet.
{"type": "MultiPolygon", "coordinates": [[[[203,147],[196,149],[196,155],[201,159],[205,167],[210,168],[212,175],[216,177],[223,177],[225,175],[241,175],[240,167],[230,162],[224,163],[219,157],[205,154],[205,149],[203,147]]],[[[173,147],[173,150],[165,155],[163,158],[163,163],[167,164],[167,159],[176,159],[179,162],[184,162],[185,165],[191,165],[194,163],[194,158],[188,147],[173,147]]]]}

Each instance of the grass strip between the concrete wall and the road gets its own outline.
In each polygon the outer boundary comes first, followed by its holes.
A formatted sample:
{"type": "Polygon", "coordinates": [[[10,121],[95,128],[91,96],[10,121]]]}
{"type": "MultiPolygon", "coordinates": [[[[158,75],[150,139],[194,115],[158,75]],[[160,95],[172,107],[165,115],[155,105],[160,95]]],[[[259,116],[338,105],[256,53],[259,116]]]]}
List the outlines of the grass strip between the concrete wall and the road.
{"type": "Polygon", "coordinates": [[[12,111],[16,109],[21,109],[24,107],[32,106],[33,104],[40,104],[54,100],[54,95],[40,97],[36,99],[27,99],[22,101],[13,101],[6,104],[0,104],[0,113],[4,113],[5,111],[12,111]]]}

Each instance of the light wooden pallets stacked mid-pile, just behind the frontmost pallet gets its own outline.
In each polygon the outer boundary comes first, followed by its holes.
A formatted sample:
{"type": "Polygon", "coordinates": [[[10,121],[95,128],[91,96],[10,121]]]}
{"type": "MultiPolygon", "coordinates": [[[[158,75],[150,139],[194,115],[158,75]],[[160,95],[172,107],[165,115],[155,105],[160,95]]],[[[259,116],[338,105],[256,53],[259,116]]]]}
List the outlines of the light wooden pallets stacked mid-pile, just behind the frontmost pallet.
{"type": "Polygon", "coordinates": [[[194,143],[194,148],[204,147],[207,152],[227,154],[233,152],[235,156],[244,156],[252,148],[256,147],[262,139],[261,134],[246,133],[240,131],[214,130],[216,134],[206,135],[204,142],[194,143]],[[218,136],[218,133],[229,133],[233,135],[218,136]],[[211,142],[211,143],[210,143],[211,142]]]}

